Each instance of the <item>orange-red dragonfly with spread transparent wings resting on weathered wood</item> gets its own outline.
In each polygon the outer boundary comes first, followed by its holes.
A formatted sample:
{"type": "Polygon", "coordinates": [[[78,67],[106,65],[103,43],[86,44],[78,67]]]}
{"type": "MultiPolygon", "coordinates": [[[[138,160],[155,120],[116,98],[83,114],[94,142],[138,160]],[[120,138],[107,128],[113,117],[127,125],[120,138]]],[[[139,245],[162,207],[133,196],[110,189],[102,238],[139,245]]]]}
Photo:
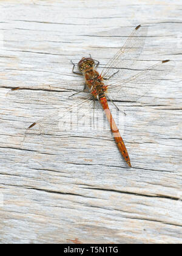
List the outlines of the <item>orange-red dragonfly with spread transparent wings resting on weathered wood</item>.
{"type": "MultiPolygon", "coordinates": [[[[101,73],[98,72],[97,68],[99,67],[99,61],[92,58],[90,55],[89,57],[83,57],[79,60],[77,65],[77,70],[75,71],[76,65],[72,62],[73,74],[78,76],[83,76],[83,82],[76,82],[76,81],[62,81],[58,84],[53,85],[44,85],[44,87],[35,87],[35,90],[44,88],[47,90],[54,90],[64,88],[64,86],[69,87],[70,85],[84,85],[84,89],[81,91],[76,91],[76,93],[72,94],[82,94],[86,93],[88,96],[86,99],[82,97],[78,97],[75,104],[67,107],[64,112],[61,113],[61,116],[58,117],[58,112],[52,113],[52,115],[45,116],[38,121],[30,124],[30,126],[26,130],[26,134],[30,131],[35,131],[36,129],[41,130],[41,127],[45,126],[48,122],[53,123],[56,119],[64,118],[68,112],[71,112],[75,107],[81,108],[84,102],[94,102],[98,101],[101,107],[103,108],[103,112],[106,115],[106,118],[109,122],[110,130],[113,134],[113,138],[118,146],[121,155],[123,156],[124,160],[126,161],[129,167],[132,167],[129,153],[127,151],[126,145],[121,137],[120,130],[118,129],[115,120],[112,116],[110,111],[109,102],[112,102],[115,107],[116,106],[114,100],[110,98],[112,93],[115,93],[118,98],[120,99],[129,99],[129,94],[132,93],[132,100],[136,98],[140,98],[146,93],[146,88],[151,84],[152,79],[161,76],[164,76],[165,73],[168,73],[171,69],[171,66],[166,66],[170,60],[161,60],[160,62],[155,63],[149,68],[142,69],[138,73],[133,76],[129,76],[127,78],[122,78],[126,69],[129,69],[130,66],[135,62],[141,53],[143,48],[144,40],[146,38],[147,27],[144,26],[136,26],[133,32],[129,35],[124,43],[123,47],[121,47],[115,55],[107,62],[104,66],[101,73]],[[132,57],[135,57],[132,59],[132,57]],[[137,85],[140,85],[139,91],[136,91],[137,85]]],[[[33,88],[33,87],[26,87],[26,88],[33,88]]],[[[15,87],[12,88],[10,91],[16,90],[24,90],[24,87],[15,87]]],[[[119,110],[119,109],[118,109],[119,110]]]]}

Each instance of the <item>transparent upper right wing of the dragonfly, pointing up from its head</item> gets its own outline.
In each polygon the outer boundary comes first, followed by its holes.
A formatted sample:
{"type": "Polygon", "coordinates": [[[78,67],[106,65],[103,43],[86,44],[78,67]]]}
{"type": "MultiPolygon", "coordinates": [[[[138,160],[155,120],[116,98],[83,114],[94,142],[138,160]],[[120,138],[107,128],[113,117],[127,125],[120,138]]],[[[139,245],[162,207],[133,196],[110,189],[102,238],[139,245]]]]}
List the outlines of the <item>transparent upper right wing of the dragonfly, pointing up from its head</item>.
{"type": "Polygon", "coordinates": [[[131,68],[137,57],[141,54],[146,34],[147,27],[141,25],[135,27],[123,47],[106,64],[101,72],[101,76],[109,79],[110,76],[118,71],[118,76],[122,77],[124,69],[131,68]]]}

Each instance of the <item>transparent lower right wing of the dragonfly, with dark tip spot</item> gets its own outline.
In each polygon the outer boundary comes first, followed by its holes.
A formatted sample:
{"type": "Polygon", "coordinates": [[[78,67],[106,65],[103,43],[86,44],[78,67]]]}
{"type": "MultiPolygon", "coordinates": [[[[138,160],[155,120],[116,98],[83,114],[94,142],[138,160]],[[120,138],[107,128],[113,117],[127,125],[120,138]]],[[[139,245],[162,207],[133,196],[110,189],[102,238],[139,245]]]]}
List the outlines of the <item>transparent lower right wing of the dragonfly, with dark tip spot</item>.
{"type": "Polygon", "coordinates": [[[174,62],[163,60],[127,79],[113,79],[108,84],[109,97],[115,100],[119,99],[120,101],[137,101],[153,85],[158,85],[159,80],[165,77],[173,68],[174,62]]]}

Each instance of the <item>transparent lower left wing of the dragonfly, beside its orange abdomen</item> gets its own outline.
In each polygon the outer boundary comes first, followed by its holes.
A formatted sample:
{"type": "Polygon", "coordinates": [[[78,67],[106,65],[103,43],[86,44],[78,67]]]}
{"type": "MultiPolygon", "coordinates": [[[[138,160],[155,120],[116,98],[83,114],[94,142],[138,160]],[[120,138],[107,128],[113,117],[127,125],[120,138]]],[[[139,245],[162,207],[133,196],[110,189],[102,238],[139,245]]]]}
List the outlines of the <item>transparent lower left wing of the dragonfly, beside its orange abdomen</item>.
{"type": "MultiPolygon", "coordinates": [[[[98,135],[98,132],[102,135],[103,132],[108,134],[110,126],[99,102],[84,91],[78,95],[73,96],[73,99],[62,101],[59,110],[30,124],[25,131],[22,143],[28,141],[32,143],[32,138],[36,137],[38,137],[36,143],[42,140],[47,140],[49,143],[49,136],[56,140],[58,137],[83,137],[84,132],[87,137],[98,135]]],[[[118,113],[111,104],[110,110],[120,129],[123,129],[123,113],[118,113]]]]}

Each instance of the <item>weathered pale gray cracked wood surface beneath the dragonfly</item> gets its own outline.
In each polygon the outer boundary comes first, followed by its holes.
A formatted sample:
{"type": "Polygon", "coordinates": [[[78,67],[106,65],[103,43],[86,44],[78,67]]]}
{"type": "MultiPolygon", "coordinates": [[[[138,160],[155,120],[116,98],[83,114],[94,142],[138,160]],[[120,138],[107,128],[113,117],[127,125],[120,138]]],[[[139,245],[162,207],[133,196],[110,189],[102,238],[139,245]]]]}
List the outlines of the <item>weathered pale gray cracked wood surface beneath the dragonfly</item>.
{"type": "Polygon", "coordinates": [[[0,242],[181,243],[180,1],[1,1],[0,12],[0,242]],[[49,126],[24,137],[76,102],[67,99],[78,84],[47,90],[82,81],[70,60],[90,53],[106,64],[138,24],[148,27],[138,69],[165,59],[175,66],[138,101],[115,101],[132,168],[107,129],[49,126]],[[110,36],[118,27],[120,37],[110,36]],[[33,85],[39,90],[6,95],[33,85]]]}

